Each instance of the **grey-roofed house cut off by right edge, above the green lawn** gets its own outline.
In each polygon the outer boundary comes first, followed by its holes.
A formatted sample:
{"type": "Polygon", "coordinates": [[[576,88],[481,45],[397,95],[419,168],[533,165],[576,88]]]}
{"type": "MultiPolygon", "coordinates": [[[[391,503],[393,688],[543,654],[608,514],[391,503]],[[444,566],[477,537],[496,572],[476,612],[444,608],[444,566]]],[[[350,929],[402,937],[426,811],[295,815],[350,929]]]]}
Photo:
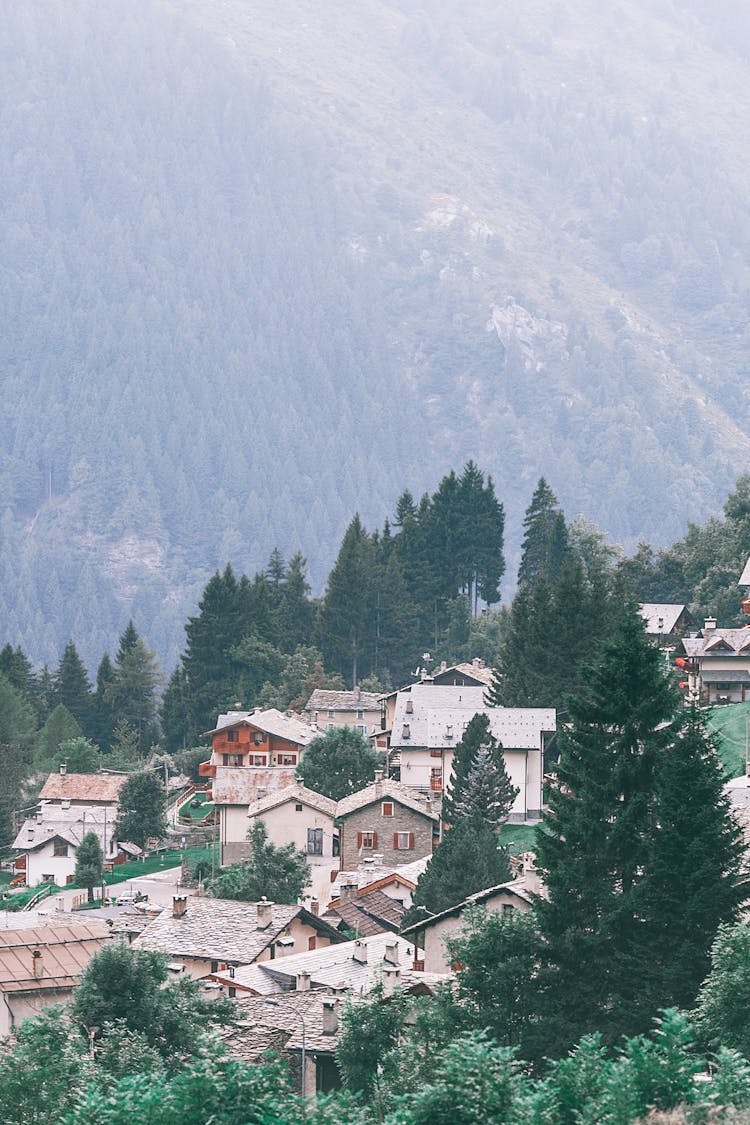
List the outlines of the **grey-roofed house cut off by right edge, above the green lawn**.
{"type": "Polygon", "coordinates": [[[695,692],[704,703],[743,703],[750,699],[750,626],[717,629],[707,618],[697,633],[683,637],[675,648],[695,692]]]}

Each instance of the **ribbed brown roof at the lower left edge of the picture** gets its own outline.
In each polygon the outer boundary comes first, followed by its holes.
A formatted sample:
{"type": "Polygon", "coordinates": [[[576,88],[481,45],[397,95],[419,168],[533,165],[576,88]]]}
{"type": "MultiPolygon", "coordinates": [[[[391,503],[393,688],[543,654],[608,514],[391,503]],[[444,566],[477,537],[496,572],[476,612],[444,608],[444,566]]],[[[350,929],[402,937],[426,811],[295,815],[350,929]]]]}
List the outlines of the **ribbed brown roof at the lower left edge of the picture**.
{"type": "Polygon", "coordinates": [[[110,936],[106,921],[0,930],[0,991],[74,988],[110,936]]]}

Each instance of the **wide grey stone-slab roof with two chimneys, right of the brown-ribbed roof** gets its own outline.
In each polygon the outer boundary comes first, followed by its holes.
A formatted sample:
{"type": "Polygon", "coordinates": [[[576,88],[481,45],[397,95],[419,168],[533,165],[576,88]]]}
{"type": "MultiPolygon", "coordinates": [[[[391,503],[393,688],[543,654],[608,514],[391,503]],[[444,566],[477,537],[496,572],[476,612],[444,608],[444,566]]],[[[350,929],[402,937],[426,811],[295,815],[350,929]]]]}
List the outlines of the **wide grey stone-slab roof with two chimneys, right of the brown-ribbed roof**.
{"type": "Polygon", "coordinates": [[[155,950],[169,956],[252,964],[295,918],[314,926],[333,942],[341,935],[328,922],[301,906],[271,903],[268,925],[259,922],[256,902],[229,899],[188,899],[186,912],[175,918],[164,910],[133,943],[141,950],[155,950]]]}

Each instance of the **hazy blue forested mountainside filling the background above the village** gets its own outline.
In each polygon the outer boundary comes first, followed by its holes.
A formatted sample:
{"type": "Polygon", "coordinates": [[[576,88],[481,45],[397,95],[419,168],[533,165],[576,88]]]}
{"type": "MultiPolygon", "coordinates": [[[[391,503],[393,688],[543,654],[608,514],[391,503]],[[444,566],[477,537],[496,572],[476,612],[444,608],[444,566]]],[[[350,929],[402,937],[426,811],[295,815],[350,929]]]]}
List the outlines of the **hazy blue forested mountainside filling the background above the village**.
{"type": "Polygon", "coordinates": [[[171,662],[470,457],[629,547],[747,467],[748,16],[425,8],[0,3],[0,639],[171,662]]]}

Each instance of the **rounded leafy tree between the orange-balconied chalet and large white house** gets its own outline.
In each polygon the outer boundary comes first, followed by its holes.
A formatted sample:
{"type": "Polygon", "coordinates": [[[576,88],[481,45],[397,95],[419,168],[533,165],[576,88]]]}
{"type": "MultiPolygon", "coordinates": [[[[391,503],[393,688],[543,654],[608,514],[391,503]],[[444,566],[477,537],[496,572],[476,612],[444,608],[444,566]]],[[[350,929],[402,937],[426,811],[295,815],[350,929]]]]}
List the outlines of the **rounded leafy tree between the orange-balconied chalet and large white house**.
{"type": "Polygon", "coordinates": [[[382,755],[353,727],[334,727],[305,748],[297,776],[316,793],[341,801],[374,780],[382,755]]]}

